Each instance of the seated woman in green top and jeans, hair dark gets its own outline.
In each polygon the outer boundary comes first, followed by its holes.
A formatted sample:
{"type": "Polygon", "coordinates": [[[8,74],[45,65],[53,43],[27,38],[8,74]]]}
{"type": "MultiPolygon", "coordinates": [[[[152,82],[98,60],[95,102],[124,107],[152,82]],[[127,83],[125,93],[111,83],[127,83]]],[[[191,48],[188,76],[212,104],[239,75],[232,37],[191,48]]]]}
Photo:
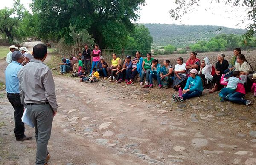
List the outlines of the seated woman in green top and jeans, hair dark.
{"type": "Polygon", "coordinates": [[[147,58],[145,58],[142,62],[142,69],[141,69],[141,77],[140,77],[140,85],[143,85],[144,82],[144,77],[146,74],[146,85],[149,85],[149,74],[150,74],[150,67],[152,65],[152,60],[154,60],[154,58],[151,58],[152,54],[148,53],[147,54],[147,58]]]}

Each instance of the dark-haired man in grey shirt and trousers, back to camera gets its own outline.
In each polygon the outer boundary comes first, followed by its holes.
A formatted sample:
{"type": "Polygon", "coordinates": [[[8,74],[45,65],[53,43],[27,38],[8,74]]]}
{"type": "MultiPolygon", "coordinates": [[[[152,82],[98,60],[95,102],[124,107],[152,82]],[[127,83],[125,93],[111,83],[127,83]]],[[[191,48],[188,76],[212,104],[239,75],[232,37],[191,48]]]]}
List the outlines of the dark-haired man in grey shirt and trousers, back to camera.
{"type": "Polygon", "coordinates": [[[51,136],[52,120],[57,113],[55,85],[50,68],[43,62],[47,57],[47,46],[37,44],[33,48],[34,59],[20,69],[21,102],[27,108],[26,114],[35,126],[37,142],[36,165],[47,165],[50,155],[47,151],[51,136]]]}

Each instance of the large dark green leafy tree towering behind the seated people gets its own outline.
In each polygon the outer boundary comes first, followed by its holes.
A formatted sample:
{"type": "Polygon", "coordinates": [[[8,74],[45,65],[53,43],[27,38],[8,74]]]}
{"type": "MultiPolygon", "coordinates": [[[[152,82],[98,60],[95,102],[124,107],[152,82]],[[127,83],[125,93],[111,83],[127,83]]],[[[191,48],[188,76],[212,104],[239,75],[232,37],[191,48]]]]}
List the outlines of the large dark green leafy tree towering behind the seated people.
{"type": "Polygon", "coordinates": [[[33,0],[31,7],[42,39],[70,39],[69,25],[76,31],[87,29],[100,48],[123,47],[134,31],[131,21],[145,0],[33,0]]]}

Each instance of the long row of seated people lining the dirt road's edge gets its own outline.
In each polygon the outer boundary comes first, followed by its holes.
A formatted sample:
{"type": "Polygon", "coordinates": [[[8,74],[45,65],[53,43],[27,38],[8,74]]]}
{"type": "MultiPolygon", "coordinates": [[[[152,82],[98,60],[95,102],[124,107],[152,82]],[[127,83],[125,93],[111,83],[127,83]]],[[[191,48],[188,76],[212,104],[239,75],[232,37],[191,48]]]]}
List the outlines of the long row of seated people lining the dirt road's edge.
{"type": "MultiPolygon", "coordinates": [[[[179,96],[173,96],[175,102],[178,100],[183,102],[186,99],[201,96],[203,89],[207,87],[213,87],[210,93],[221,90],[225,85],[227,85],[226,88],[230,88],[229,83],[226,81],[230,81],[230,79],[228,79],[229,77],[238,77],[237,72],[235,72],[233,76],[233,72],[238,71],[239,79],[244,83],[236,79],[238,85],[233,84],[231,93],[225,93],[224,95],[221,95],[221,93],[220,99],[221,102],[229,100],[249,105],[251,102],[243,98],[246,90],[244,87],[249,86],[250,90],[254,91],[256,84],[253,83],[253,81],[255,81],[256,75],[253,76],[253,68],[250,63],[247,62],[245,56],[241,54],[241,49],[235,48],[233,52],[234,56],[230,63],[224,59],[224,54],[218,54],[218,62],[215,67],[210,63],[208,57],[200,61],[196,57],[197,53],[191,52],[186,63],[183,62],[182,57],[178,57],[177,64],[174,68],[167,59],[163,60],[163,66],[161,66],[157,59],[151,57],[151,53],[148,53],[147,57],[143,59],[140,51],[137,51],[134,59],[131,59],[131,56],[127,56],[123,64],[121,59],[114,53],[112,54],[113,59],[111,60],[111,66],[108,66],[104,57],[101,56],[99,57],[99,61],[93,65],[91,68],[92,71],[87,77],[82,74],[86,72],[86,68],[82,68],[83,63],[80,57],[79,61],[81,62],[80,64],[78,62],[78,67],[80,68],[78,71],[81,81],[85,82],[98,81],[99,77],[107,79],[108,75],[110,79],[109,82],[113,80],[115,80],[116,83],[125,81],[125,83],[129,85],[133,83],[136,76],[139,75],[140,85],[144,84],[145,79],[145,85],[143,87],[153,88],[153,79],[155,79],[157,80],[158,88],[169,88],[172,85],[175,91],[182,91],[182,94],[179,96]],[[94,68],[95,66],[97,67],[94,68]],[[224,79],[224,74],[226,74],[227,79],[224,79]],[[221,82],[224,82],[224,85],[221,82]],[[242,86],[240,84],[242,84],[242,86]],[[239,92],[239,94],[237,92],[239,92]]],[[[73,58],[74,57],[71,57],[70,59],[73,58]]],[[[67,60],[65,63],[67,63],[67,60]]],[[[247,91],[249,91],[249,88],[247,91]]],[[[254,96],[256,96],[256,91],[254,91],[254,96]]]]}

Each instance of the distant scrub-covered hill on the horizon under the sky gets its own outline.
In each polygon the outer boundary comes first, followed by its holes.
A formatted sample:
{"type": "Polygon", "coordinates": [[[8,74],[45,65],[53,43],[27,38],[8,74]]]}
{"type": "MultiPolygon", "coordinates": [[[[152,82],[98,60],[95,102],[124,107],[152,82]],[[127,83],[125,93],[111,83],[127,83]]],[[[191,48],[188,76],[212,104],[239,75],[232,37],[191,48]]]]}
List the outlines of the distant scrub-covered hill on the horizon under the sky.
{"type": "Polygon", "coordinates": [[[189,46],[198,40],[210,40],[217,34],[244,34],[246,30],[213,25],[144,24],[157,46],[171,44],[176,47],[189,46]]]}

